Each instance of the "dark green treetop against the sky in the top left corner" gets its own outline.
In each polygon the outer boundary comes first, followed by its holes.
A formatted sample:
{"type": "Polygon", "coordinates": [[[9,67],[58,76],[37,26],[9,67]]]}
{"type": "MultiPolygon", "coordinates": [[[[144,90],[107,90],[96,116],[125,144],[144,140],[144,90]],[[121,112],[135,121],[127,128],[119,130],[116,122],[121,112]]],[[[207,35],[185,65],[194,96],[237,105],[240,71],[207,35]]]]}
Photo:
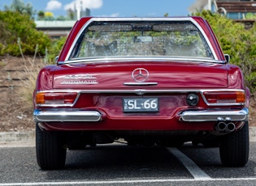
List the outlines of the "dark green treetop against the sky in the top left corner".
{"type": "Polygon", "coordinates": [[[20,14],[28,14],[30,18],[36,15],[36,11],[33,10],[31,3],[25,4],[22,0],[13,0],[11,6],[5,6],[5,11],[17,11],[20,14]]]}

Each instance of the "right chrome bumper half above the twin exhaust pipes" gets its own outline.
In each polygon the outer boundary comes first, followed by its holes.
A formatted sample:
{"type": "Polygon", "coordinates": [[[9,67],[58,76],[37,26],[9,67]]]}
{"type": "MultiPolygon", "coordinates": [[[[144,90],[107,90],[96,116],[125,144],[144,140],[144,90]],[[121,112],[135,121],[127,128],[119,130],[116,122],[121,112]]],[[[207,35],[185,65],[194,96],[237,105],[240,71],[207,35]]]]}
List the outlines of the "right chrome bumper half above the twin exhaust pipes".
{"type": "Polygon", "coordinates": [[[245,121],[248,120],[249,110],[203,110],[203,111],[184,111],[180,114],[180,120],[189,122],[198,121],[245,121]]]}

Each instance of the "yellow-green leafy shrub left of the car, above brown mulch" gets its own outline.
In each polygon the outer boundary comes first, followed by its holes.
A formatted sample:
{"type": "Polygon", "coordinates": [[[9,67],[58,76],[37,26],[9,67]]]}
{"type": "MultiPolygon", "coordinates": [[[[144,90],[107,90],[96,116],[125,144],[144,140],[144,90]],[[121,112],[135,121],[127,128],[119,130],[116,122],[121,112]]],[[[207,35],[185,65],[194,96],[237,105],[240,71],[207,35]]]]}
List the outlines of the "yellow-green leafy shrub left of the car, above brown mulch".
{"type": "Polygon", "coordinates": [[[27,14],[14,11],[0,11],[0,55],[20,56],[20,46],[25,55],[33,55],[38,44],[37,53],[44,55],[50,46],[50,38],[38,32],[33,19],[27,14]]]}

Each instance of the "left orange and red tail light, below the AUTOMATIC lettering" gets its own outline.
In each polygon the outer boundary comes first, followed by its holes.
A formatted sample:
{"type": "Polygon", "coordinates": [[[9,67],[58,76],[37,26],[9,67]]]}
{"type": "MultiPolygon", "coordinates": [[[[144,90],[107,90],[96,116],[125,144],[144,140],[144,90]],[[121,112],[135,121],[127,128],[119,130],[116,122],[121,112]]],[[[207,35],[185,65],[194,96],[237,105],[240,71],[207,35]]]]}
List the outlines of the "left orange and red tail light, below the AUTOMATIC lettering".
{"type": "Polygon", "coordinates": [[[47,105],[72,105],[77,97],[77,92],[38,92],[36,104],[47,105]]]}

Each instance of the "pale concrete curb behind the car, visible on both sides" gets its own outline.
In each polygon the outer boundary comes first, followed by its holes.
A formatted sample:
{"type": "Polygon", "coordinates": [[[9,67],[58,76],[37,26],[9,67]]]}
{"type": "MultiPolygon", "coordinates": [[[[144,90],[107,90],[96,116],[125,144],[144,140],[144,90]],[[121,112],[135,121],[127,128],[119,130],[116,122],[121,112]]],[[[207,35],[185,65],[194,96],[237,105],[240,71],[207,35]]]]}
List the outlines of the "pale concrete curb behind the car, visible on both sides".
{"type": "MultiPolygon", "coordinates": [[[[1,146],[35,146],[35,131],[1,132],[1,146]]],[[[249,127],[249,142],[256,142],[256,127],[249,127]]]]}

